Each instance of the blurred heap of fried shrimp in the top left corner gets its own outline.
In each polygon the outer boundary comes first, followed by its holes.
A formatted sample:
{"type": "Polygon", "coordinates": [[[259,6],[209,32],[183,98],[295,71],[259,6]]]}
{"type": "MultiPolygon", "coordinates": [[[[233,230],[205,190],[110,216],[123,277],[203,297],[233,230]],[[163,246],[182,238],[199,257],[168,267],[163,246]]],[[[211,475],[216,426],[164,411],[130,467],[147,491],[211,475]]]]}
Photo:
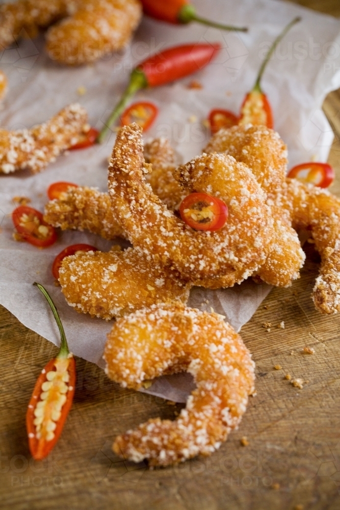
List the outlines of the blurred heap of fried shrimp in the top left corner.
{"type": "Polygon", "coordinates": [[[62,64],[90,63],[122,48],[141,15],[138,0],[18,0],[0,7],[0,44],[36,37],[59,21],[46,34],[48,55],[62,64]]]}

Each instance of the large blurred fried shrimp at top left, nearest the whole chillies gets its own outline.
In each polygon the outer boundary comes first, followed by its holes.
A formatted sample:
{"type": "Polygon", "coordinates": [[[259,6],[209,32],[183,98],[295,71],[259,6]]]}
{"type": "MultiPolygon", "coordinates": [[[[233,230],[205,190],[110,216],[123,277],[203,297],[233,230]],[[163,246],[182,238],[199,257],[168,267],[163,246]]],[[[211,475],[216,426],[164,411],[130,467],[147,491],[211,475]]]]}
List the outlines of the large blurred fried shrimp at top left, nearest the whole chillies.
{"type": "Polygon", "coordinates": [[[51,59],[62,64],[93,62],[122,48],[142,15],[138,0],[84,0],[46,34],[51,59]]]}

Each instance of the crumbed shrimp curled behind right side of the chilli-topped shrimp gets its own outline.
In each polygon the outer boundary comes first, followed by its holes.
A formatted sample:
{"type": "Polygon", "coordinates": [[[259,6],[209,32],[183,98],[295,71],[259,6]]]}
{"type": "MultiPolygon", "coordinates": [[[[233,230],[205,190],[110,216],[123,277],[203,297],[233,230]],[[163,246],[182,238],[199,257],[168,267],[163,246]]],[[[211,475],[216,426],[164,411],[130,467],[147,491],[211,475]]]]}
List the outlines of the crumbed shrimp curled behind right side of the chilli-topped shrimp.
{"type": "Polygon", "coordinates": [[[221,129],[208,143],[207,152],[223,152],[251,169],[267,193],[267,205],[274,220],[272,249],[256,274],[266,283],[289,287],[300,277],[305,254],[292,227],[289,214],[278,205],[277,196],[285,182],[287,147],[278,133],[266,126],[234,126],[221,129]]]}

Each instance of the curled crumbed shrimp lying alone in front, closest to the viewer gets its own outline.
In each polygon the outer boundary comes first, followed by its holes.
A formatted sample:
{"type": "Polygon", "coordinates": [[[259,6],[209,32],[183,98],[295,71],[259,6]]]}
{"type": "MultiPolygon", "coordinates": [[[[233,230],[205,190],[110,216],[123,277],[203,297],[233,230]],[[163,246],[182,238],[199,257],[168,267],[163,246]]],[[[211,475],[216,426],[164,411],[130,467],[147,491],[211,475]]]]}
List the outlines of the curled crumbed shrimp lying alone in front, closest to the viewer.
{"type": "Polygon", "coordinates": [[[194,376],[197,389],[175,421],[150,419],[115,440],[115,453],[150,466],[211,455],[238,426],[254,392],[254,362],[241,337],[221,316],[180,303],[119,319],[104,359],[109,377],[127,388],[184,370],[194,376]]]}

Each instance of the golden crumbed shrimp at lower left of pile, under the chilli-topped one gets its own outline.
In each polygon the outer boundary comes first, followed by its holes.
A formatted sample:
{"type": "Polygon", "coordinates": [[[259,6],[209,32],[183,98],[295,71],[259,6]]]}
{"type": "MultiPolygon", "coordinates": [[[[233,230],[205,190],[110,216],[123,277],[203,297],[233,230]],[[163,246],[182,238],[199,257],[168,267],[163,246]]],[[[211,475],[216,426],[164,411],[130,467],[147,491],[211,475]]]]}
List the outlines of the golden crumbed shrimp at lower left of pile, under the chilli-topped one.
{"type": "Polygon", "coordinates": [[[156,269],[132,248],[66,257],[59,282],[74,310],[107,320],[155,303],[186,302],[190,290],[174,274],[156,269]]]}

